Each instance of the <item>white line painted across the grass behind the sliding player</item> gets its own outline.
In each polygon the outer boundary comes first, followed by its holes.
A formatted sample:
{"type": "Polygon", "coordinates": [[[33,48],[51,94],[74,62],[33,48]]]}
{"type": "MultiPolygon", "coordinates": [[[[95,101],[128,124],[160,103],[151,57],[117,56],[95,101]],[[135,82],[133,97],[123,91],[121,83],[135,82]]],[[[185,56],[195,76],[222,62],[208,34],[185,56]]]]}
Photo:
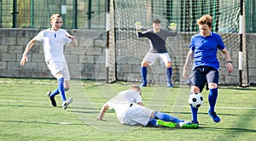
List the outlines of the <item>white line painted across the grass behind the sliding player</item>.
{"type": "MultiPolygon", "coordinates": [[[[22,103],[48,103],[49,101],[32,101],[32,100],[8,100],[8,99],[0,99],[1,102],[22,102],[22,103]]],[[[73,101],[73,104],[98,104],[102,105],[103,103],[94,103],[94,102],[75,102],[73,101]]],[[[158,104],[147,104],[148,106],[162,106],[158,104]]],[[[190,107],[189,105],[165,105],[165,106],[172,106],[172,107],[190,107]]],[[[201,106],[201,108],[204,108],[204,106],[201,106]]],[[[256,110],[256,107],[216,107],[220,109],[232,109],[232,110],[256,110]]]]}

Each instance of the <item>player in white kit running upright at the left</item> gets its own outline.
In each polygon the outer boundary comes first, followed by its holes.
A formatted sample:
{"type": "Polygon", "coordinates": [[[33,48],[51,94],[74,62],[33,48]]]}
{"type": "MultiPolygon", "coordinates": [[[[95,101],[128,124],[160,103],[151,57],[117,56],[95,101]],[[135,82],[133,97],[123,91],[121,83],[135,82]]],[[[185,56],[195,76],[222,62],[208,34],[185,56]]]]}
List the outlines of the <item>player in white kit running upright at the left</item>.
{"type": "Polygon", "coordinates": [[[65,91],[70,88],[70,76],[67,68],[67,62],[64,56],[64,45],[71,43],[73,47],[77,47],[74,37],[67,31],[61,29],[62,19],[60,14],[53,14],[50,17],[51,28],[40,31],[38,35],[26,45],[26,49],[20,60],[20,65],[23,66],[27,62],[27,54],[35,42],[43,42],[44,59],[49,68],[49,71],[58,80],[58,87],[51,92],[46,93],[51,104],[56,106],[55,95],[61,94],[62,108],[67,109],[67,105],[71,104],[73,99],[66,99],[65,91]]]}

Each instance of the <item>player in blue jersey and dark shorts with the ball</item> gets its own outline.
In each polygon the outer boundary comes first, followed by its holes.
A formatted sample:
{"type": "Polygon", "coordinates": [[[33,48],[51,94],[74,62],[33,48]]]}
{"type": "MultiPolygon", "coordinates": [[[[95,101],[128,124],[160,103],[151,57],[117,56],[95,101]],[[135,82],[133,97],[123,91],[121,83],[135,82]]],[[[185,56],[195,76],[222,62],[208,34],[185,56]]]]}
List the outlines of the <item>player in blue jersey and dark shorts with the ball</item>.
{"type": "MultiPolygon", "coordinates": [[[[191,86],[191,93],[201,93],[203,87],[207,84],[209,89],[208,102],[210,104],[208,115],[212,120],[219,122],[214,108],[218,97],[218,69],[219,62],[217,51],[220,50],[226,59],[226,68],[229,73],[233,71],[233,65],[230,60],[230,54],[224,46],[222,38],[213,33],[212,16],[206,14],[197,20],[200,32],[191,37],[189,53],[183,66],[183,77],[188,80],[191,86]],[[194,59],[194,65],[190,76],[187,74],[189,64],[194,59]]],[[[198,108],[191,106],[192,122],[197,123],[198,108]]]]}

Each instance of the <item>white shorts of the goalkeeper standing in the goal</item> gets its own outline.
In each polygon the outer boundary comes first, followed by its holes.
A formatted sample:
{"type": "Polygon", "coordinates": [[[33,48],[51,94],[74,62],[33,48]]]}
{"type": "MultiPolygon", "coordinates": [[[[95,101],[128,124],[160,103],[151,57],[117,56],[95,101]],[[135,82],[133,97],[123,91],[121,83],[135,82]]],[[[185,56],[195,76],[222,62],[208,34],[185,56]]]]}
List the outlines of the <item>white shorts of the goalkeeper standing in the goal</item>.
{"type": "Polygon", "coordinates": [[[165,63],[165,62],[168,62],[168,61],[171,61],[171,58],[170,58],[169,54],[167,54],[167,53],[161,53],[160,54],[160,53],[150,53],[150,52],[148,52],[145,55],[143,61],[148,62],[148,65],[154,65],[154,62],[155,62],[156,59],[160,59],[161,64],[165,63]]]}

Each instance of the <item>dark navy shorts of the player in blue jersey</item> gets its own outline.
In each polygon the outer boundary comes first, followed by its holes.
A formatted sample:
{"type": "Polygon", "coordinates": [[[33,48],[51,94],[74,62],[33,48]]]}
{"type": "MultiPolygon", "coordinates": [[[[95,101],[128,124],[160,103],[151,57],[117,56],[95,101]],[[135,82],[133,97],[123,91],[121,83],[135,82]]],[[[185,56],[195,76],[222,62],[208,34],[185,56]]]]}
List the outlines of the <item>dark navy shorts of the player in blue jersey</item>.
{"type": "Polygon", "coordinates": [[[210,82],[218,84],[218,71],[210,66],[199,66],[193,69],[187,84],[199,87],[202,92],[206,84],[209,89],[208,83],[210,82]]]}

